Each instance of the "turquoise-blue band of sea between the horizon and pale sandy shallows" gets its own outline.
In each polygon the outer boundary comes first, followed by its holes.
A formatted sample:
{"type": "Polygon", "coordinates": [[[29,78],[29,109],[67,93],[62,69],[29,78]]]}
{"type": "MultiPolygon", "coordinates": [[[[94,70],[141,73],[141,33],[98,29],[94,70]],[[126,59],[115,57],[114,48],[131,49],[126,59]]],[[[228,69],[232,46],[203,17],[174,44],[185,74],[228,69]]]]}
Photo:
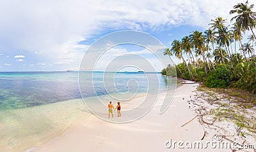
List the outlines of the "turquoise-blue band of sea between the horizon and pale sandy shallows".
{"type": "MultiPolygon", "coordinates": [[[[83,74],[92,73],[83,72],[83,74]]],[[[94,88],[85,86],[84,97],[116,92],[147,92],[148,90],[148,79],[144,73],[117,73],[115,80],[111,82],[115,83],[115,87],[106,86],[108,76],[112,75],[113,73],[94,72],[93,79],[86,79],[85,76],[85,81],[93,81],[94,88]],[[127,85],[131,79],[132,81],[127,85]]],[[[156,86],[150,86],[150,88],[166,88],[170,85],[168,78],[158,75],[161,78],[159,85],[156,83],[156,86]]],[[[0,109],[33,107],[79,98],[81,94],[78,72],[0,73],[0,109]]]]}

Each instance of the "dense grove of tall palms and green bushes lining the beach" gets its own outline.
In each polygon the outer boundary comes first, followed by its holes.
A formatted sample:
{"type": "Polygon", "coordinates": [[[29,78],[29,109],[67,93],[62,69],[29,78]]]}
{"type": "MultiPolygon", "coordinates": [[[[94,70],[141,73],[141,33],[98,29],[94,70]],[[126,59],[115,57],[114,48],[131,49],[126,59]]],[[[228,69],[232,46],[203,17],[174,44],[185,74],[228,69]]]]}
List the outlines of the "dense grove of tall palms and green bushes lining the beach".
{"type": "Polygon", "coordinates": [[[169,65],[163,74],[200,81],[210,88],[241,88],[256,93],[253,4],[239,3],[230,15],[234,15],[230,25],[216,17],[206,31],[193,31],[181,41],[175,39],[164,55],[175,55],[182,62],[174,67],[169,65]],[[246,34],[250,34],[248,38],[244,38],[246,34]]]}

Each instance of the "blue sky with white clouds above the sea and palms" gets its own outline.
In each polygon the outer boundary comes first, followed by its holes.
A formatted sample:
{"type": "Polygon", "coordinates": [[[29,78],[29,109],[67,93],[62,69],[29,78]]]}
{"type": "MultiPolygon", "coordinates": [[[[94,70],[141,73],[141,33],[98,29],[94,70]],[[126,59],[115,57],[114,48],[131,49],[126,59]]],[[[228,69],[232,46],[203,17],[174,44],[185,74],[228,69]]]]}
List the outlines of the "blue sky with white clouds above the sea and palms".
{"type": "MultiPolygon", "coordinates": [[[[195,30],[204,32],[214,17],[229,22],[232,17],[229,11],[241,2],[245,3],[241,0],[0,0],[0,71],[78,71],[84,54],[97,39],[120,30],[146,32],[170,48],[174,39],[182,39],[195,30]]],[[[256,4],[256,0],[248,2],[256,4]]],[[[116,62],[116,57],[139,67],[145,66],[143,62],[140,65],[143,57],[156,71],[163,68],[146,48],[120,45],[110,48],[95,70],[104,71],[112,60],[111,65],[118,67],[120,61],[116,62]],[[125,55],[131,52],[140,57],[125,55]]],[[[179,62],[175,57],[173,60],[179,62]]]]}

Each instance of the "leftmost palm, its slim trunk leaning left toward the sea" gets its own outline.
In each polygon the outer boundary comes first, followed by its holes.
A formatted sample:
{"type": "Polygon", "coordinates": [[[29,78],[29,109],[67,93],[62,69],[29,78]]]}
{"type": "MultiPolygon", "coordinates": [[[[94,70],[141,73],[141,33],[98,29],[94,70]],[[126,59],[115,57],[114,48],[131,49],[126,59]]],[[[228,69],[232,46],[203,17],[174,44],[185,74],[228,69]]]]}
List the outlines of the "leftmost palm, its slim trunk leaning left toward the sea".
{"type": "Polygon", "coordinates": [[[188,67],[188,71],[189,74],[191,75],[192,79],[195,81],[195,78],[193,76],[193,74],[191,73],[190,67],[188,66],[186,60],[184,59],[184,57],[182,56],[182,43],[179,40],[174,40],[172,42],[172,48],[171,48],[172,52],[174,53],[174,55],[178,58],[178,59],[182,59],[183,62],[186,64],[186,66],[188,67]]]}

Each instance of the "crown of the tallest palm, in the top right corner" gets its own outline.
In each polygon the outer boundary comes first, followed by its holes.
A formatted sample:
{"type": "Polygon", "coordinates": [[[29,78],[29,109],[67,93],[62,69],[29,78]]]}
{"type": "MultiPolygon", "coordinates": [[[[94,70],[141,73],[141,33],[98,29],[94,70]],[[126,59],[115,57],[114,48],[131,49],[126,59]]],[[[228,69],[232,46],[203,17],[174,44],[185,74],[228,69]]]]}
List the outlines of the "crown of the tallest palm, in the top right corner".
{"type": "Polygon", "coordinates": [[[245,4],[239,3],[234,6],[235,10],[231,10],[229,13],[234,14],[237,13],[235,17],[231,18],[231,21],[236,19],[237,25],[241,25],[241,28],[245,30],[252,31],[253,36],[255,34],[253,32],[253,28],[255,28],[255,20],[256,20],[256,13],[252,11],[254,4],[248,5],[248,1],[245,4]]]}

